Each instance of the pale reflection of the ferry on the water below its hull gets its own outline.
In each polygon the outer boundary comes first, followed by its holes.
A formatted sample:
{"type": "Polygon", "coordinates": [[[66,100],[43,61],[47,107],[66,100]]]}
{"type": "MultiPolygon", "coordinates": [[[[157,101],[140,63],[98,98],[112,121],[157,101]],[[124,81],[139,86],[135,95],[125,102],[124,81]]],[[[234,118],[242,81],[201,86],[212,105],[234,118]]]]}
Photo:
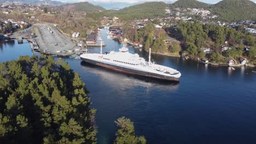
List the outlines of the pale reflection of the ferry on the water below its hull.
{"type": "Polygon", "coordinates": [[[89,73],[97,74],[102,78],[102,80],[106,81],[109,84],[119,85],[123,87],[133,87],[133,86],[142,86],[142,87],[154,87],[159,89],[168,89],[169,91],[175,90],[179,87],[178,81],[162,81],[149,79],[147,77],[130,75],[118,73],[113,70],[105,69],[98,67],[97,65],[92,65],[86,62],[81,62],[83,66],[82,69],[89,73]]]}

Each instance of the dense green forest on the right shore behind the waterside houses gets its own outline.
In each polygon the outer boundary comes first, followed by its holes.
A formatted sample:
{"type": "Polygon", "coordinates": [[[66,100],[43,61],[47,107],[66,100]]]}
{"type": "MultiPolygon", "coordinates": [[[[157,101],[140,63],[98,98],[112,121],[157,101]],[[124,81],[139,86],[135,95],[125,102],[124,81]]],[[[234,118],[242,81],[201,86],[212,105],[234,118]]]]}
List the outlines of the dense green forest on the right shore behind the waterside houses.
{"type": "MultiPolygon", "coordinates": [[[[213,55],[219,55],[221,46],[230,46],[231,49],[223,53],[225,57],[238,59],[247,56],[254,60],[256,56],[255,37],[249,33],[236,31],[229,27],[205,24],[200,22],[179,21],[176,27],[167,28],[166,31],[174,38],[181,41],[183,51],[191,58],[203,58],[205,53],[200,51],[202,47],[213,49],[213,55]],[[225,41],[228,43],[225,44],[225,41]],[[244,52],[246,46],[251,46],[251,51],[244,52]]],[[[212,61],[221,61],[222,57],[213,58],[212,61]]]]}

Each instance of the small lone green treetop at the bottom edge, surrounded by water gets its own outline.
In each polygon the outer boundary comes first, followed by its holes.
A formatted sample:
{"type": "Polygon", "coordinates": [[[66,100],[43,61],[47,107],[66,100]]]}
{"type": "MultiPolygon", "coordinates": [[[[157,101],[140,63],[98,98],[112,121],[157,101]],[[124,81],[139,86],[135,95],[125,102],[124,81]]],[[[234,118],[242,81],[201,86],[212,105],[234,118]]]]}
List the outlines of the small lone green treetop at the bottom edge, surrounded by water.
{"type": "Polygon", "coordinates": [[[131,122],[130,119],[127,119],[125,117],[118,118],[117,121],[115,121],[117,126],[119,127],[117,133],[115,133],[115,136],[117,136],[117,139],[115,139],[114,143],[116,144],[146,144],[147,141],[144,136],[136,136],[135,130],[133,126],[133,122],[131,122]]]}

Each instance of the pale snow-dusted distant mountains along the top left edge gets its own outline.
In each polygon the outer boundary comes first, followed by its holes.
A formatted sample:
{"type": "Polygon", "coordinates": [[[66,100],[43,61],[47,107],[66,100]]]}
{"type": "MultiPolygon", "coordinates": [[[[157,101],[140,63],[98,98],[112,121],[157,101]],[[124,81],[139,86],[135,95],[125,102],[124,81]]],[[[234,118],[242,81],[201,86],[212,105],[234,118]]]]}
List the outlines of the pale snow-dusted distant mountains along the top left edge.
{"type": "Polygon", "coordinates": [[[44,4],[44,5],[62,5],[64,3],[59,2],[59,1],[50,1],[50,0],[44,0],[44,1],[39,1],[39,0],[0,0],[1,3],[21,3],[21,4],[44,4]]]}

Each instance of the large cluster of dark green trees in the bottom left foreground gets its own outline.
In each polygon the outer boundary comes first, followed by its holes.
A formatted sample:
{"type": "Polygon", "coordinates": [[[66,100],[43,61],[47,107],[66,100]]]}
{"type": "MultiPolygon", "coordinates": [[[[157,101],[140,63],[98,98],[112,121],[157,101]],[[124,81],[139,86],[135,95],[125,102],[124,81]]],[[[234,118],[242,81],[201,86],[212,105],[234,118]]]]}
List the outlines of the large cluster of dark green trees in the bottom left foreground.
{"type": "Polygon", "coordinates": [[[0,143],[96,143],[88,91],[57,63],[41,55],[0,64],[0,143]]]}

